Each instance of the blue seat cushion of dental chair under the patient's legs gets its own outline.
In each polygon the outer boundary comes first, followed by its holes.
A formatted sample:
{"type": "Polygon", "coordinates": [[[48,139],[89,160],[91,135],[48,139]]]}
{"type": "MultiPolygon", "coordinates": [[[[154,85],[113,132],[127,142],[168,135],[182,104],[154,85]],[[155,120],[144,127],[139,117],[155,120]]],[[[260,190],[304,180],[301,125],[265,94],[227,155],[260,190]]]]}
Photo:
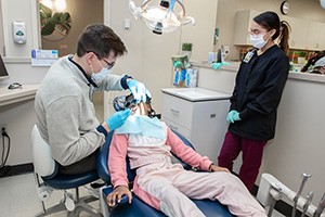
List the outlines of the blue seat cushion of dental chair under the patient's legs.
{"type": "MultiPolygon", "coordinates": [[[[103,195],[106,197],[113,191],[112,187],[103,189],[103,195]]],[[[220,204],[218,201],[210,200],[192,200],[196,206],[205,214],[205,216],[213,217],[233,217],[227,207],[220,204]]],[[[147,204],[133,194],[132,203],[128,203],[125,196],[121,203],[109,213],[109,217],[165,217],[166,215],[147,204]]]]}

